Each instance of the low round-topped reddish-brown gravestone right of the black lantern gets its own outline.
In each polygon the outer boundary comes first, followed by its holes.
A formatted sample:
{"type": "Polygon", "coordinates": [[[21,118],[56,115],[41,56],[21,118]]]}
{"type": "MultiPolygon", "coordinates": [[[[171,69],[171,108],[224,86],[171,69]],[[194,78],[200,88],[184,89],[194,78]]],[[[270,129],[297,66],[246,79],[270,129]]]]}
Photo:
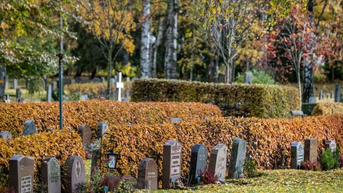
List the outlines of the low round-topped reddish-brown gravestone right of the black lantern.
{"type": "Polygon", "coordinates": [[[157,189],[157,164],[153,159],[145,158],[141,160],[138,166],[138,189],[157,189]]]}

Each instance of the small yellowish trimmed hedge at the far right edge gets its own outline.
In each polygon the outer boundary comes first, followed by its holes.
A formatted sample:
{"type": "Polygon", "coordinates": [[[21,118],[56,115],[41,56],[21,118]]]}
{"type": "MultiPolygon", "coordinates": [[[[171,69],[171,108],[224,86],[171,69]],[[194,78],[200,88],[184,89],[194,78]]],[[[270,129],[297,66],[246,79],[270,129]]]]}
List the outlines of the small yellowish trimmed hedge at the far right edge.
{"type": "Polygon", "coordinates": [[[334,115],[343,114],[342,102],[322,102],[317,103],[312,111],[312,115],[334,115]]]}

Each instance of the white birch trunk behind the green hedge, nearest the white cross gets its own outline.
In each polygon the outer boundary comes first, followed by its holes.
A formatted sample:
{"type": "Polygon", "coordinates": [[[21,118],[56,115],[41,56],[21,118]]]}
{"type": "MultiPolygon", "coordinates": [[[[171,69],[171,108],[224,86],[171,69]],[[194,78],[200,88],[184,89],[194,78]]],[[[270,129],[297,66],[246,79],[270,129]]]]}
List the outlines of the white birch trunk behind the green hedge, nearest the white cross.
{"type": "Polygon", "coordinates": [[[141,78],[150,77],[149,65],[149,31],[150,31],[150,0],[143,0],[143,23],[141,38],[141,78]]]}

